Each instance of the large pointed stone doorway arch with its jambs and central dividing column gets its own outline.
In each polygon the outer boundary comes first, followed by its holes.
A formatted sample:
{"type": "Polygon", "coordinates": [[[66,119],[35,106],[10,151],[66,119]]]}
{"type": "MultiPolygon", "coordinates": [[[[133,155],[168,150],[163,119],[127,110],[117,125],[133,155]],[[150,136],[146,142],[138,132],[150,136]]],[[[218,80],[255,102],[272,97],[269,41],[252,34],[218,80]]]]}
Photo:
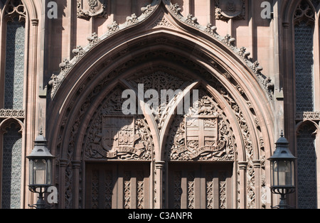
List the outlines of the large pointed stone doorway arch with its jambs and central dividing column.
{"type": "MultiPolygon", "coordinates": [[[[156,70],[169,72],[185,82],[201,80],[201,86],[214,97],[224,115],[228,115],[237,145],[233,171],[235,178],[240,180],[235,187],[245,188],[240,195],[235,192],[239,201],[234,202],[234,207],[261,207],[260,196],[247,196],[261,194],[260,175],[267,173],[269,167],[265,158],[271,156],[274,142],[272,99],[257,77],[261,67],[255,63],[250,64],[250,68],[245,56],[241,58],[239,51],[233,51],[232,40],[225,38],[223,42],[216,38],[213,28],[210,28],[213,34],[208,35],[176,18],[167,5],[154,5],[154,8],[151,15],[144,15],[144,20],[135,23],[134,28],[121,29],[121,25],[114,23],[110,26],[111,33],[101,38],[92,35],[87,47],[74,50],[78,57],[65,60],[60,65],[60,75],[53,77],[47,138],[53,155],[59,160],[54,173],[64,196],[60,207],[83,207],[83,201],[79,199],[83,197],[79,175],[85,168],[87,125],[97,107],[110,96],[109,92],[116,84],[129,87],[130,77],[156,70]]],[[[245,53],[243,49],[241,52],[245,53]]],[[[188,90],[194,87],[190,83],[188,86],[188,90]]],[[[149,128],[159,125],[153,116],[146,119],[151,121],[149,128]]],[[[165,146],[161,143],[165,144],[173,119],[174,116],[163,119],[165,129],[161,129],[160,134],[152,130],[152,140],[157,141],[155,159],[151,161],[154,168],[151,172],[156,173],[155,191],[162,191],[161,177],[165,167],[161,154],[165,146]]],[[[161,196],[161,193],[154,194],[157,201],[154,207],[162,207],[161,196]]]]}

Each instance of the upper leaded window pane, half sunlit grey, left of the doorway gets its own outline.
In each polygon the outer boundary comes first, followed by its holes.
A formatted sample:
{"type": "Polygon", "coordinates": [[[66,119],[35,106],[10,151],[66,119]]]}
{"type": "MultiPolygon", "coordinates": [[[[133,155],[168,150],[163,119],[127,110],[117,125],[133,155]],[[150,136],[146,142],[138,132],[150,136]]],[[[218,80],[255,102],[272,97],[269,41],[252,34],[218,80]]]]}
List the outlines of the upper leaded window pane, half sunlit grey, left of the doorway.
{"type": "Polygon", "coordinates": [[[24,39],[25,23],[15,17],[6,28],[5,109],[23,109],[24,39]]]}

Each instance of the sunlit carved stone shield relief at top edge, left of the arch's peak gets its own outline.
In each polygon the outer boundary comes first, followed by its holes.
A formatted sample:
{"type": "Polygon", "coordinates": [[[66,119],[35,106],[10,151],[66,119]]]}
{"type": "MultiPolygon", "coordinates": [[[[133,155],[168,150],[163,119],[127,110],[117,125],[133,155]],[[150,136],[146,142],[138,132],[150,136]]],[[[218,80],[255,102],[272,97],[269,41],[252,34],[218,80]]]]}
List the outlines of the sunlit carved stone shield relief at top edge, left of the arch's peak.
{"type": "Polygon", "coordinates": [[[107,0],[77,0],[78,18],[107,17],[107,0]]]}

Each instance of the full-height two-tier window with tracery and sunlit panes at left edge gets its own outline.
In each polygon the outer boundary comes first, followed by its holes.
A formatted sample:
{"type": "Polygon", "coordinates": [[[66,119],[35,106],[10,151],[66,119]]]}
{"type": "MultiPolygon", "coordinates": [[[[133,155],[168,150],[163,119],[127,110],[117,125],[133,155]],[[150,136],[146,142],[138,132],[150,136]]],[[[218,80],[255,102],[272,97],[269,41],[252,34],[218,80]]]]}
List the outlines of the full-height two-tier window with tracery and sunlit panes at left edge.
{"type": "Polygon", "coordinates": [[[6,1],[3,6],[4,19],[4,67],[1,67],[0,123],[8,125],[0,129],[0,157],[3,164],[1,180],[1,208],[21,208],[23,82],[25,71],[26,8],[21,0],[6,1]]]}

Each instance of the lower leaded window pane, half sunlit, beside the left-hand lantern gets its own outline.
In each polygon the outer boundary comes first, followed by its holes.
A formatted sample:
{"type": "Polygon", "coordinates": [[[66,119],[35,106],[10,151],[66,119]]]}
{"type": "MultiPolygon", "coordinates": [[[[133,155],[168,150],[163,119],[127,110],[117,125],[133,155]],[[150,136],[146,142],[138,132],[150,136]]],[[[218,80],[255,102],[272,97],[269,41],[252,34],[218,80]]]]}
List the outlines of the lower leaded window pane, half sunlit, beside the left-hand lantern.
{"type": "Polygon", "coordinates": [[[11,124],[4,134],[3,165],[2,165],[2,195],[3,209],[20,208],[21,195],[21,148],[22,138],[18,125],[11,124]]]}

